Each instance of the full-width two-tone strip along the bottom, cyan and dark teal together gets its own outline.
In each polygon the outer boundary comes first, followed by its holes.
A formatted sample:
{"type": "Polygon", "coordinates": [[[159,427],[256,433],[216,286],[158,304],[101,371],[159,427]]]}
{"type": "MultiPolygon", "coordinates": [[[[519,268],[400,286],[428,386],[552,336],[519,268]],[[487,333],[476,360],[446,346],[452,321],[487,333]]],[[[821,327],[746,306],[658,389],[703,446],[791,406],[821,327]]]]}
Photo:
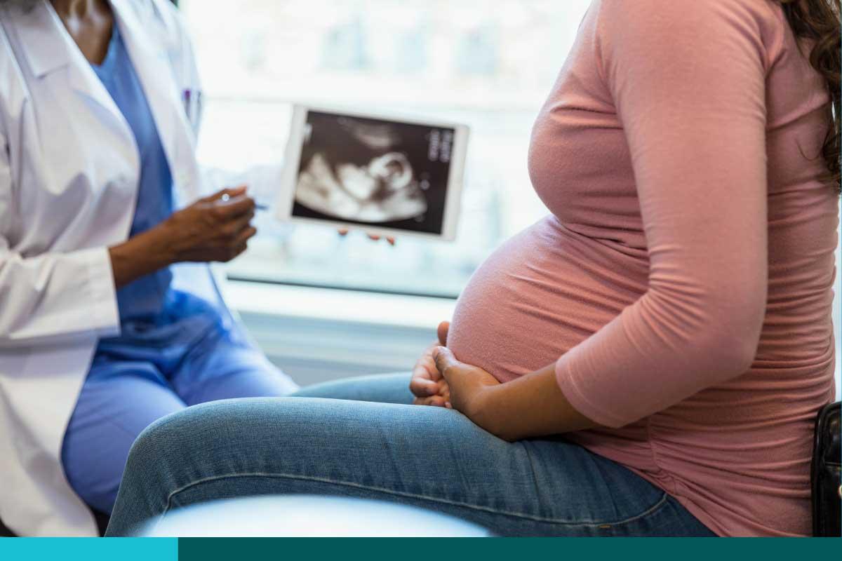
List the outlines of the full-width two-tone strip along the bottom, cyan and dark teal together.
{"type": "Polygon", "coordinates": [[[793,561],[833,559],[839,556],[840,550],[842,540],[838,538],[0,539],[2,561],[294,561],[311,558],[360,558],[366,561],[468,561],[477,558],[483,561],[523,558],[711,561],[723,556],[793,561]]]}

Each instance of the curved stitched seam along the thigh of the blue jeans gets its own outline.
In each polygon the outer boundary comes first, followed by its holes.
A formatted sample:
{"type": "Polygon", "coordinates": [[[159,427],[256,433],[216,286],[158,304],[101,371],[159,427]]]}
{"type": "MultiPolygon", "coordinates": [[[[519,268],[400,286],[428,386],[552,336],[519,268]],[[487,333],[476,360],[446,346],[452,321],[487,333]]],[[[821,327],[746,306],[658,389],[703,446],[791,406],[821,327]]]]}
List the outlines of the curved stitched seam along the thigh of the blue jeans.
{"type": "Polygon", "coordinates": [[[307,477],[307,476],[304,476],[304,475],[294,475],[294,474],[264,474],[264,473],[227,474],[227,475],[216,475],[214,477],[199,479],[197,481],[194,481],[192,483],[184,485],[184,487],[180,487],[179,489],[174,490],[167,497],[167,505],[164,508],[164,511],[161,513],[161,519],[163,519],[163,516],[166,516],[167,513],[172,508],[172,501],[173,501],[173,497],[175,495],[179,495],[179,493],[182,493],[185,490],[188,490],[189,488],[195,487],[195,486],[200,485],[200,484],[210,483],[210,482],[218,481],[218,480],[221,480],[221,479],[234,479],[234,478],[241,478],[241,477],[267,477],[267,478],[279,478],[279,479],[295,479],[295,480],[301,480],[301,481],[314,481],[314,482],[317,482],[317,483],[328,483],[328,484],[334,484],[334,485],[343,485],[345,487],[354,487],[355,489],[377,491],[377,492],[380,492],[380,493],[383,493],[383,494],[386,494],[386,495],[396,495],[396,496],[402,496],[402,497],[407,497],[407,498],[411,498],[411,499],[429,500],[431,502],[439,502],[439,503],[444,503],[446,505],[462,506],[462,507],[465,507],[467,509],[471,509],[471,510],[474,510],[474,511],[484,511],[484,512],[490,512],[492,514],[512,516],[514,518],[523,518],[525,520],[530,520],[530,521],[546,522],[546,523],[550,523],[550,524],[557,524],[559,526],[570,526],[570,527],[599,527],[599,526],[605,526],[606,524],[609,524],[612,527],[616,527],[616,526],[629,524],[633,521],[637,521],[637,520],[641,519],[644,516],[648,516],[650,514],[653,514],[653,512],[655,512],[655,511],[658,511],[658,509],[663,507],[663,505],[665,505],[667,503],[667,500],[669,499],[669,495],[667,495],[666,493],[663,493],[663,496],[661,497],[661,499],[658,500],[658,502],[655,503],[654,505],[647,508],[646,511],[643,511],[640,514],[632,516],[631,518],[626,518],[626,519],[621,520],[621,521],[573,522],[573,521],[554,520],[552,518],[543,518],[541,516],[531,516],[529,514],[520,514],[520,513],[515,513],[515,512],[498,511],[498,510],[495,510],[495,509],[490,508],[488,506],[470,505],[470,504],[467,504],[467,503],[458,502],[456,500],[447,500],[447,499],[441,499],[439,497],[430,497],[430,496],[427,496],[427,495],[417,495],[417,494],[414,494],[414,493],[405,493],[405,492],[402,492],[402,491],[382,489],[380,487],[372,487],[372,486],[369,486],[369,485],[363,485],[363,484],[353,483],[353,482],[349,482],[349,481],[334,481],[333,479],[318,478],[318,477],[307,477]]]}

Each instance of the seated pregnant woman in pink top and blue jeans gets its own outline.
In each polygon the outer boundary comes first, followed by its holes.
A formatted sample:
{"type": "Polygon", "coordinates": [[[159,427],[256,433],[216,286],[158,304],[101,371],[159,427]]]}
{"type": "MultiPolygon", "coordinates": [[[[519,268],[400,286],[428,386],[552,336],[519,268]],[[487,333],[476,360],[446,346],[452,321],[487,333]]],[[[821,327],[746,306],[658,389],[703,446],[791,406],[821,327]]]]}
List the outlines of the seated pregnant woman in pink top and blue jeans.
{"type": "Polygon", "coordinates": [[[109,533],[304,493],[503,535],[807,535],[838,116],[838,3],[595,0],[533,134],[552,215],[474,275],[417,405],[392,376],[170,415],[109,533]]]}

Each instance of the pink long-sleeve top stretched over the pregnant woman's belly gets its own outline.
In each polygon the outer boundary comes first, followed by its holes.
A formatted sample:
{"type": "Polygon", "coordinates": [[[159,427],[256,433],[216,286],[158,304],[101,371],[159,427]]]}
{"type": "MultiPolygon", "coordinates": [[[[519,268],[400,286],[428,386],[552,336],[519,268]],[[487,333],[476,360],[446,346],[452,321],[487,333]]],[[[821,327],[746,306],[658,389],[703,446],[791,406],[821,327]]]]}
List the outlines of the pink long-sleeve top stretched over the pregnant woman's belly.
{"type": "Polygon", "coordinates": [[[828,127],[778,3],[595,0],[533,131],[552,215],[477,270],[448,344],[503,382],[555,362],[605,427],[568,437],[717,534],[807,535],[834,397],[828,127]]]}

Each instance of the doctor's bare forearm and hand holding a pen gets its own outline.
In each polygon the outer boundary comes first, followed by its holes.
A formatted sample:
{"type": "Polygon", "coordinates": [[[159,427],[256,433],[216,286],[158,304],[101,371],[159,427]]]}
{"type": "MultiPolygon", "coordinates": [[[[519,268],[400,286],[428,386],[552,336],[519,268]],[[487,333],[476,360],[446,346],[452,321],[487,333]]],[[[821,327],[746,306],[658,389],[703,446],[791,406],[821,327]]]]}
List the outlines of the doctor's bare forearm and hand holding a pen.
{"type": "Polygon", "coordinates": [[[245,187],[223,189],[154,228],[109,247],[116,288],[177,262],[231,261],[257,233],[245,187]]]}

